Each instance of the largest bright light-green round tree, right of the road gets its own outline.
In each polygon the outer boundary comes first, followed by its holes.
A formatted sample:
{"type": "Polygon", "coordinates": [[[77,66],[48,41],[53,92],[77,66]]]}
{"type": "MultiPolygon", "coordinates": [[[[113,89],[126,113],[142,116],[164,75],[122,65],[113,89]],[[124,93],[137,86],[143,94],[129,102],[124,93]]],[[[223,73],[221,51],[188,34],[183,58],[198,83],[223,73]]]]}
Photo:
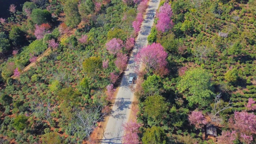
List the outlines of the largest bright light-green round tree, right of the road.
{"type": "Polygon", "coordinates": [[[195,104],[207,106],[213,96],[211,77],[209,73],[200,68],[186,71],[177,83],[177,89],[186,96],[190,106],[195,104]]]}

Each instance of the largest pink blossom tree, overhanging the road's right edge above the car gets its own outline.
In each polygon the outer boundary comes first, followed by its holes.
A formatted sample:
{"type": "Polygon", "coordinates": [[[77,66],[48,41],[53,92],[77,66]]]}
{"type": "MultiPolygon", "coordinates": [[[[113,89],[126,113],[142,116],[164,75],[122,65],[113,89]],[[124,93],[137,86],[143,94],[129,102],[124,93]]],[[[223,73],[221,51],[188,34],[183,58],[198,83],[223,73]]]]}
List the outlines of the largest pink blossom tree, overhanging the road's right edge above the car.
{"type": "Polygon", "coordinates": [[[152,43],[137,53],[135,61],[142,62],[146,65],[146,70],[150,68],[158,69],[159,67],[164,68],[167,65],[167,52],[160,43],[152,43]]]}

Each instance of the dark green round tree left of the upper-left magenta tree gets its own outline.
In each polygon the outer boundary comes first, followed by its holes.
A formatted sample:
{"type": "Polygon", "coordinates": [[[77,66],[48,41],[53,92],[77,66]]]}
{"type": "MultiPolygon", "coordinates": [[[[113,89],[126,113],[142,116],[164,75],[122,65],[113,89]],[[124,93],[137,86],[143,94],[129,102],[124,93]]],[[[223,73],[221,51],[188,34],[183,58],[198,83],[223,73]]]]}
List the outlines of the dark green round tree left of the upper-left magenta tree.
{"type": "Polygon", "coordinates": [[[9,33],[9,39],[12,40],[13,45],[16,46],[20,45],[22,42],[24,43],[25,38],[25,33],[20,27],[17,27],[16,25],[12,26],[9,33]]]}

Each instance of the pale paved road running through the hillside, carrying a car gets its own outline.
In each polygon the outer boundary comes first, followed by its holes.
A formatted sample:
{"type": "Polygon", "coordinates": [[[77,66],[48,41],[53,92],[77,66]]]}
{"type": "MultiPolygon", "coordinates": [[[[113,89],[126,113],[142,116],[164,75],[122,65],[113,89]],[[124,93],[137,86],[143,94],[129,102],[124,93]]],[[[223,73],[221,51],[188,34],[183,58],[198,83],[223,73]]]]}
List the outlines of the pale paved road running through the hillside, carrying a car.
{"type": "Polygon", "coordinates": [[[128,84],[128,79],[129,75],[135,75],[135,68],[139,66],[134,62],[134,55],[137,53],[139,48],[147,45],[147,36],[150,34],[154,21],[153,16],[156,13],[156,9],[158,9],[159,3],[160,0],[149,1],[149,8],[146,11],[145,22],[142,22],[141,30],[138,34],[134,49],[132,50],[130,59],[128,61],[127,69],[122,76],[120,88],[115,99],[112,113],[107,122],[104,137],[101,140],[102,144],[122,143],[122,136],[124,135],[122,125],[128,122],[129,114],[131,112],[131,102],[134,98],[134,94],[129,88],[130,84],[128,84]]]}

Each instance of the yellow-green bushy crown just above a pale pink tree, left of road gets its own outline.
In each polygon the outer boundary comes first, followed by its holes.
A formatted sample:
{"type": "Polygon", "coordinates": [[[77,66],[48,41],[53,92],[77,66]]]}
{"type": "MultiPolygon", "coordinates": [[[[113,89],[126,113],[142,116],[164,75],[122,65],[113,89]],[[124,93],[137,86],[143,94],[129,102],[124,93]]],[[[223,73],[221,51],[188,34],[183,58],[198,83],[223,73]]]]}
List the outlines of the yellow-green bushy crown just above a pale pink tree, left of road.
{"type": "Polygon", "coordinates": [[[127,33],[125,33],[125,31],[120,28],[114,28],[114,30],[110,30],[107,33],[107,40],[112,40],[113,38],[125,41],[127,39],[127,33]]]}

